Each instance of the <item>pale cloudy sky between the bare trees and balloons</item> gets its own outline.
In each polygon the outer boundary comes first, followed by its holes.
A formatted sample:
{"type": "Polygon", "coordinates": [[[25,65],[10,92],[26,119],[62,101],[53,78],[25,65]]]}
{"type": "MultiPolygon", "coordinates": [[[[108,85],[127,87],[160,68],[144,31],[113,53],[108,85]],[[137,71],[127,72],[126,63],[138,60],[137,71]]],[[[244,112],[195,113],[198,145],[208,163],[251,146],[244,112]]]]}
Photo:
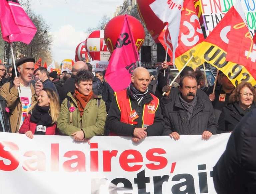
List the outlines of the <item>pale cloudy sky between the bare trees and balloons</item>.
{"type": "Polygon", "coordinates": [[[86,30],[100,19],[112,17],[123,0],[31,0],[32,9],[50,25],[54,41],[52,57],[59,63],[75,57],[76,46],[87,37],[86,30]]]}

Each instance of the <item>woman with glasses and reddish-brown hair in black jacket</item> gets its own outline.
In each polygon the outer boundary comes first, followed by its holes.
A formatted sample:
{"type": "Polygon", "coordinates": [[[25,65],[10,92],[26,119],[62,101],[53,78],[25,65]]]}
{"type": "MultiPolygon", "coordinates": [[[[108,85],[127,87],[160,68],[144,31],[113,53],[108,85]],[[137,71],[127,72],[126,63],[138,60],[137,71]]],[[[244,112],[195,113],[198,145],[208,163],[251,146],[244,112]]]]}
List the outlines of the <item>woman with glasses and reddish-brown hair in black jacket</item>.
{"type": "Polygon", "coordinates": [[[239,121],[256,107],[256,92],[250,83],[241,82],[229,97],[229,104],[222,109],[218,133],[232,132],[239,121]]]}

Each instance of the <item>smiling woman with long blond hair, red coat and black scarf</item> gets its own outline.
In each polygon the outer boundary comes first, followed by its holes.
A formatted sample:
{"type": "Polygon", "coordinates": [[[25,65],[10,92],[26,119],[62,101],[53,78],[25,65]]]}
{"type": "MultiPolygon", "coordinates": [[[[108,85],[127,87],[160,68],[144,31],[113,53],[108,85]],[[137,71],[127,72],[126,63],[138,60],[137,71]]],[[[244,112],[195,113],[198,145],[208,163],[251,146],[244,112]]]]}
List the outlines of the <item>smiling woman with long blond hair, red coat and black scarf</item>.
{"type": "Polygon", "coordinates": [[[43,88],[37,102],[29,108],[19,133],[25,133],[30,139],[33,139],[33,134],[55,135],[59,112],[59,98],[56,92],[43,88]]]}

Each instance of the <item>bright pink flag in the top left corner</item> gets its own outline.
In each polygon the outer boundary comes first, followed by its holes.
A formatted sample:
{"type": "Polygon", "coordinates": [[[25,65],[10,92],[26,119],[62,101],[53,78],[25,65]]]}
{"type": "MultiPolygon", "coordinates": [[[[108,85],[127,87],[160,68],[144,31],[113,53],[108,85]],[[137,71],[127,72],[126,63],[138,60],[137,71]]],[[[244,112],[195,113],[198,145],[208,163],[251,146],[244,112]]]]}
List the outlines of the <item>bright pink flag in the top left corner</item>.
{"type": "Polygon", "coordinates": [[[2,37],[7,42],[29,44],[37,31],[18,0],[0,0],[0,23],[2,37]]]}

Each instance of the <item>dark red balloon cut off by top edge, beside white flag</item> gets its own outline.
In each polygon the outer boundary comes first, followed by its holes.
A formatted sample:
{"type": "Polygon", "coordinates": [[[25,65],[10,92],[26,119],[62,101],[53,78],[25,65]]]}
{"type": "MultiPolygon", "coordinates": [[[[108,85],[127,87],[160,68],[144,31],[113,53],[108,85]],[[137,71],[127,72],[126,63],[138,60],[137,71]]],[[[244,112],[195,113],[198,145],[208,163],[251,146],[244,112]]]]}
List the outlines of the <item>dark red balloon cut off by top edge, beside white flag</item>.
{"type": "Polygon", "coordinates": [[[158,36],[164,29],[164,23],[154,14],[152,9],[149,7],[151,3],[155,0],[137,0],[137,8],[140,14],[140,18],[146,25],[150,35],[156,43],[158,41],[158,36]]]}

